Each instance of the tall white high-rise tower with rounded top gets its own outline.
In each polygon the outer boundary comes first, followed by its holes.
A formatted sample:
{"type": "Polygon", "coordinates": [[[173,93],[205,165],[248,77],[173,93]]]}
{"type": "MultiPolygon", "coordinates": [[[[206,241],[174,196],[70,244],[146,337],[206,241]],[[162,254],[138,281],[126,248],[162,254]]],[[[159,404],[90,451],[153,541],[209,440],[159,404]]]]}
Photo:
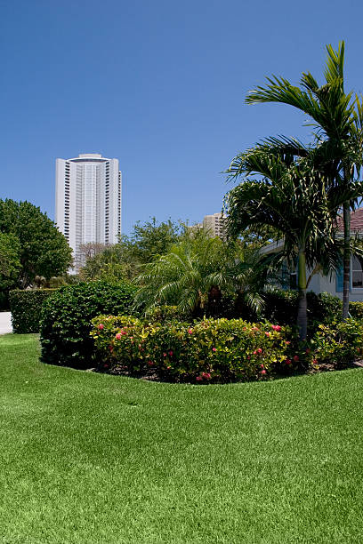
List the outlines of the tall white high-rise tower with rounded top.
{"type": "Polygon", "coordinates": [[[79,246],[116,244],[121,234],[122,175],[118,160],[96,153],[56,160],[55,222],[83,266],[79,246]]]}

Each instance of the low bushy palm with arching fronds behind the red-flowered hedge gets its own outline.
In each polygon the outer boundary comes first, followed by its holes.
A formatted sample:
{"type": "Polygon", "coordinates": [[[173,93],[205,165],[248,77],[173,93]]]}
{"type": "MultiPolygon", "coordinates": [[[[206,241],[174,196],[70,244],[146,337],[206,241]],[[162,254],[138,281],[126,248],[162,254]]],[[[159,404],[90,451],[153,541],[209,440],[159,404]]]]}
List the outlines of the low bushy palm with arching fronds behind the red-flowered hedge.
{"type": "Polygon", "coordinates": [[[140,285],[135,306],[147,313],[161,304],[171,304],[178,306],[181,314],[198,316],[211,298],[238,295],[256,311],[262,304],[258,294],[261,285],[256,285],[261,277],[253,275],[251,257],[248,255],[247,263],[238,243],[228,245],[203,230],[186,234],[168,253],[145,265],[135,279],[140,285]]]}

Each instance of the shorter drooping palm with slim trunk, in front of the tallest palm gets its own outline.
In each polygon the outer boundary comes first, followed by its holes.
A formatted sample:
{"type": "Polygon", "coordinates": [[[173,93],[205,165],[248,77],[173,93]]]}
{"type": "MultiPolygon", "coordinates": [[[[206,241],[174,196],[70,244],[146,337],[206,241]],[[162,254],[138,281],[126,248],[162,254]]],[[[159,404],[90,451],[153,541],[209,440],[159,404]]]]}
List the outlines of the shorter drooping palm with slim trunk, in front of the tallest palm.
{"type": "MultiPolygon", "coordinates": [[[[287,140],[285,140],[287,143],[287,140]]],[[[300,146],[297,140],[289,142],[300,146]]],[[[290,151],[281,153],[266,142],[235,157],[230,179],[244,173],[262,175],[262,180],[246,179],[226,197],[227,232],[236,238],[245,228],[268,225],[283,236],[283,250],[275,260],[290,262],[297,256],[299,307],[297,324],[300,340],[306,339],[307,268],[332,271],[340,263],[340,244],[335,239],[335,211],[356,198],[362,184],[332,185],[331,180],[314,168],[311,150],[303,148],[301,158],[290,151]]]]}

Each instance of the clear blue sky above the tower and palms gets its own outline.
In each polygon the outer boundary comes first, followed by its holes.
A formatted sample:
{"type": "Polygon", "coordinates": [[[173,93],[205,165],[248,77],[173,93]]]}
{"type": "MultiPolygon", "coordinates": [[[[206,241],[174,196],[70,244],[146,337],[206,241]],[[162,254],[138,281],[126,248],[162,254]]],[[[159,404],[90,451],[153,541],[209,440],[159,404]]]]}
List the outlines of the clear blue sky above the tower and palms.
{"type": "Polygon", "coordinates": [[[220,173],[303,117],[246,106],[271,73],[322,75],[346,43],[346,87],[363,91],[363,4],[244,0],[0,0],[0,197],[53,219],[56,157],[99,152],[124,175],[123,231],[136,220],[219,212],[220,173]]]}

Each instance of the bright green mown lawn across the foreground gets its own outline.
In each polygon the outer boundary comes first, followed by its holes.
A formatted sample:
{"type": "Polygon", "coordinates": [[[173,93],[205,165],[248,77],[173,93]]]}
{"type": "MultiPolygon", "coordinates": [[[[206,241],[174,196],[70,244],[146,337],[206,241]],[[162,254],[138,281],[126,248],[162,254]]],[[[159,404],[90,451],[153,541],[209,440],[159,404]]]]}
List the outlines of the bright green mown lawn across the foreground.
{"type": "Polygon", "coordinates": [[[361,370],[181,386],[38,354],[0,337],[1,541],[363,541],[361,370]]]}

